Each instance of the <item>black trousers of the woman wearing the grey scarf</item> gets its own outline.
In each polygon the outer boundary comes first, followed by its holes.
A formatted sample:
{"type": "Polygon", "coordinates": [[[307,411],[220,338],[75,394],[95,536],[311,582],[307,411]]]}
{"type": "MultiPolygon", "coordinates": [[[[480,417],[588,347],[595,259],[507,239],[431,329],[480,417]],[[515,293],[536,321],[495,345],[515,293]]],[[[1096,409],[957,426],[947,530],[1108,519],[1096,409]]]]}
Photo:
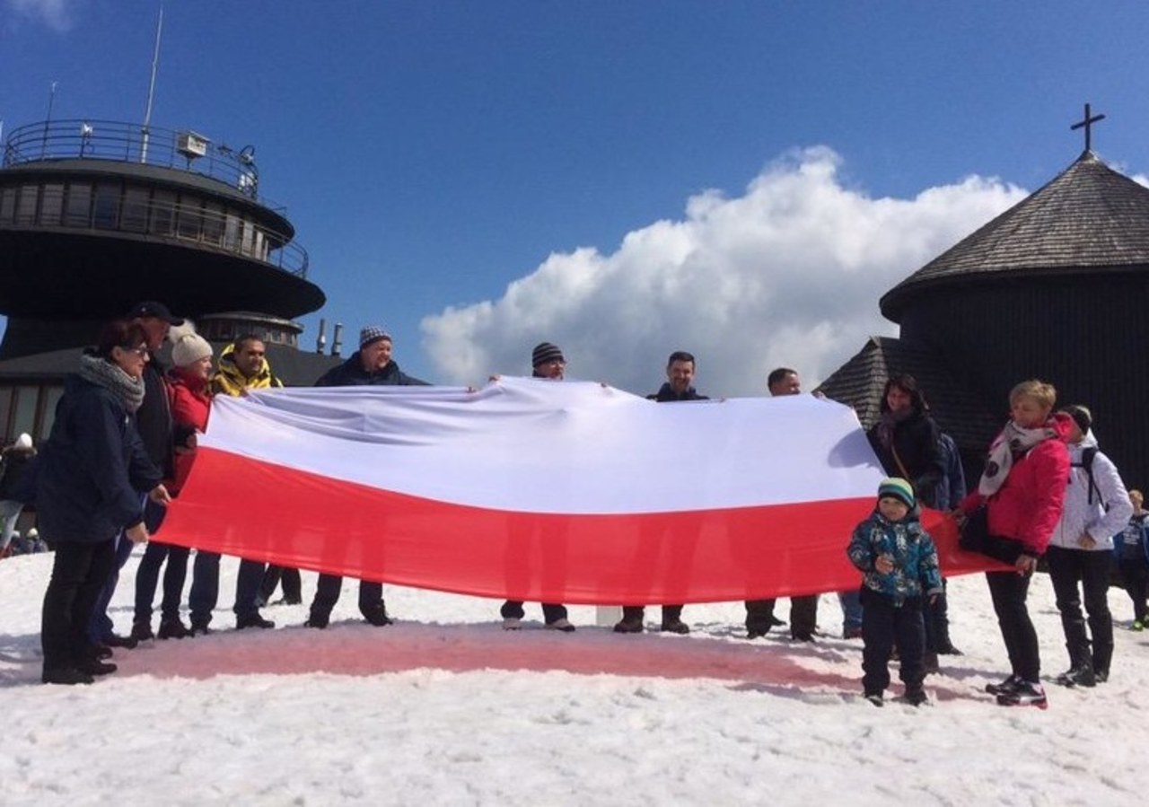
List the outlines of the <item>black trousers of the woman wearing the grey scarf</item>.
{"type": "Polygon", "coordinates": [[[40,622],[45,670],[68,669],[85,660],[92,647],[87,638],[92,610],[115,564],[114,539],[56,543],[40,622]]]}

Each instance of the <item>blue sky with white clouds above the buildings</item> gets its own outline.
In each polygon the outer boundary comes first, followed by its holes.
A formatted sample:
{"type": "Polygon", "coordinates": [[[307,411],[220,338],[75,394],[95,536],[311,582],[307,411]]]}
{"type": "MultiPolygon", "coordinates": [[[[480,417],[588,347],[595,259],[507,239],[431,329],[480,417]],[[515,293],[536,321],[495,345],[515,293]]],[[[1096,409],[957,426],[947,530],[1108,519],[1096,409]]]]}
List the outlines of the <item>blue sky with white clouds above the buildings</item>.
{"type": "MultiPolygon", "coordinates": [[[[0,0],[0,120],[144,117],[159,2],[0,0]]],[[[825,377],[887,289],[1094,148],[1147,171],[1142,2],[168,0],[153,123],[253,144],[408,371],[825,377]]]]}

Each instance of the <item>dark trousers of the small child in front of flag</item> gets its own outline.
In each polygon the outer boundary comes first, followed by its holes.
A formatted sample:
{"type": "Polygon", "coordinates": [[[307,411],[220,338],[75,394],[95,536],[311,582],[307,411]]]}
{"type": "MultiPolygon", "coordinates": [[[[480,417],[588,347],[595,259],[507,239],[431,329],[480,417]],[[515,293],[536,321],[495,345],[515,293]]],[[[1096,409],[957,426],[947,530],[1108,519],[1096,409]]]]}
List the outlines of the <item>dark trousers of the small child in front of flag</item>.
{"type": "Polygon", "coordinates": [[[901,607],[874,591],[862,592],[862,687],[867,695],[881,694],[889,686],[889,656],[897,644],[901,658],[899,677],[905,691],[921,690],[926,678],[923,653],[925,625],[920,600],[907,600],[901,607]]]}

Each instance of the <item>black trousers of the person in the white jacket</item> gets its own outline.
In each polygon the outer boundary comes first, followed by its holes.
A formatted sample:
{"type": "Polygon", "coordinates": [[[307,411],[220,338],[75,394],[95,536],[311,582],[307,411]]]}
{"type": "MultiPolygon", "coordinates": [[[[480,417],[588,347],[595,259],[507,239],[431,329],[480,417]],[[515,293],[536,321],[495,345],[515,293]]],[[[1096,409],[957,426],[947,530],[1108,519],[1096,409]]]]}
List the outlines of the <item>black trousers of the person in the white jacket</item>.
{"type": "Polygon", "coordinates": [[[1057,610],[1062,614],[1070,666],[1093,664],[1095,672],[1108,674],[1109,662],[1113,658],[1113,617],[1109,613],[1112,552],[1050,546],[1046,551],[1046,562],[1049,564],[1049,579],[1052,581],[1054,595],[1057,598],[1057,610]],[[1088,632],[1086,620],[1081,616],[1082,593],[1085,609],[1089,615],[1088,632]]]}

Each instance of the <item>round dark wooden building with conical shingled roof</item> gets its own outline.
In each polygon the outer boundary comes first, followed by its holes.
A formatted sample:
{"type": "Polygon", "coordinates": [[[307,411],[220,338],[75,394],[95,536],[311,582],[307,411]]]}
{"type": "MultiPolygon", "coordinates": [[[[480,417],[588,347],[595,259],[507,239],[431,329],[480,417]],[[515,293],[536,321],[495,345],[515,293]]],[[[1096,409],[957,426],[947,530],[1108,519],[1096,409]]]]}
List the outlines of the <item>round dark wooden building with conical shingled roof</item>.
{"type": "Polygon", "coordinates": [[[1129,486],[1149,484],[1149,190],[1089,151],[1049,184],[889,290],[897,339],[871,339],[820,390],[878,418],[888,376],[921,383],[967,468],[1026,378],[1094,413],[1129,486]]]}

